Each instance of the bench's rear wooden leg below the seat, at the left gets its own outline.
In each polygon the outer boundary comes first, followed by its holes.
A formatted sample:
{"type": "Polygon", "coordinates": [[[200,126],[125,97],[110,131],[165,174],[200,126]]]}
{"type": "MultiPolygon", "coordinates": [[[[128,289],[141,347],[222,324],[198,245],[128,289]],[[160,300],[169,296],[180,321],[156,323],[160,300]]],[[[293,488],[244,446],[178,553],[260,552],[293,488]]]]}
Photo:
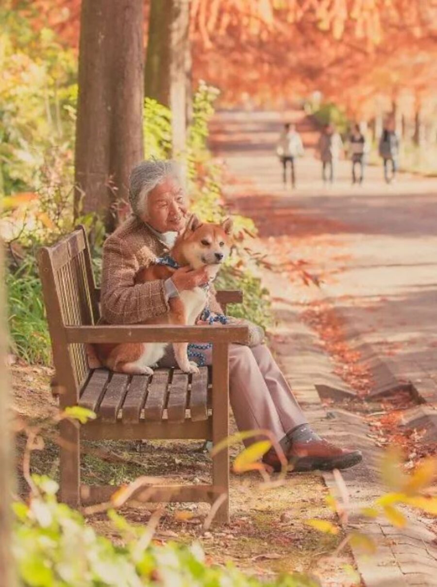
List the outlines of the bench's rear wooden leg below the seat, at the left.
{"type": "Polygon", "coordinates": [[[80,505],[79,429],[62,420],[60,429],[60,500],[73,508],[80,505]]]}

